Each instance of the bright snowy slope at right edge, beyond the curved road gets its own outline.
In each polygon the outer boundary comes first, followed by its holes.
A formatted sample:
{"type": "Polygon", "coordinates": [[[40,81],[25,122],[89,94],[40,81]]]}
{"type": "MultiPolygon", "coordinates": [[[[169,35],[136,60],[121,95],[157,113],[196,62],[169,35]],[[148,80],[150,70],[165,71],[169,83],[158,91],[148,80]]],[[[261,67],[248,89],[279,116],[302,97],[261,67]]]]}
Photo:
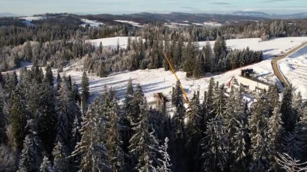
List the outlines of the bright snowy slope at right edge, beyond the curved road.
{"type": "Polygon", "coordinates": [[[279,61],[279,68],[286,79],[307,99],[307,46],[279,61]]]}

